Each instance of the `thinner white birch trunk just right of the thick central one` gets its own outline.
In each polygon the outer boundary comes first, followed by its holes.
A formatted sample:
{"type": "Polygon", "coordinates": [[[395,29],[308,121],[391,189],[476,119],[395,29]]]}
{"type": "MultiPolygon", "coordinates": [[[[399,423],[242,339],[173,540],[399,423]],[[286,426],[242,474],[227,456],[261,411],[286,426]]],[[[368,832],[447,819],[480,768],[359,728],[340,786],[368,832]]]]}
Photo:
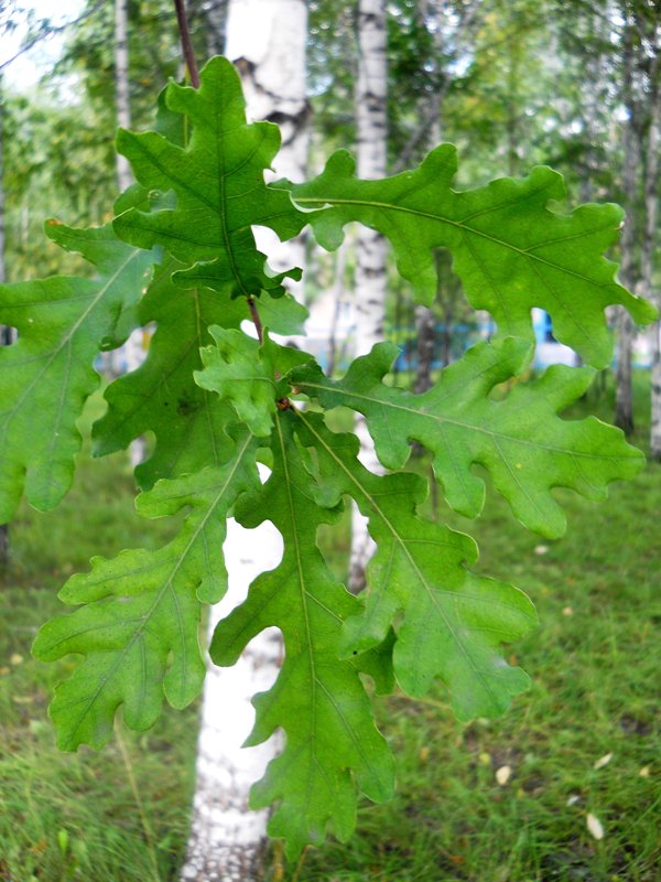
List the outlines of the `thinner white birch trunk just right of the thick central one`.
{"type": "MultiPolygon", "coordinates": [[[[388,164],[388,66],[384,0],[358,1],[358,83],[356,122],[358,132],[358,176],[383,178],[388,164]]],[[[356,260],[356,346],[355,354],[367,354],[383,340],[388,288],[386,239],[368,227],[360,227],[356,260]]],[[[371,471],[380,471],[373,443],[362,417],[356,419],[360,459],[371,471]]],[[[365,587],[365,568],[375,545],[367,520],[353,507],[349,587],[365,587]]]]}

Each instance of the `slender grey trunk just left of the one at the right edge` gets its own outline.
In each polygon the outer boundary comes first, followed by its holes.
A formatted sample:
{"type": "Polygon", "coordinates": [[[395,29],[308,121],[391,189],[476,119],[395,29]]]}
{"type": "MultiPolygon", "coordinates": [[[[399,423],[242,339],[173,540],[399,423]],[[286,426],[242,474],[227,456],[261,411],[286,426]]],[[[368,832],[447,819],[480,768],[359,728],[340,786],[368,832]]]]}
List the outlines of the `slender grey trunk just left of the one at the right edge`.
{"type": "MultiPolygon", "coordinates": [[[[625,123],[625,159],[622,170],[624,203],[627,218],[621,237],[620,278],[629,289],[636,287],[639,277],[637,259],[637,198],[638,170],[640,164],[640,133],[638,103],[633,97],[633,34],[632,26],[627,25],[625,32],[625,101],[628,118],[625,123]]],[[[633,322],[622,308],[617,313],[617,366],[616,366],[616,401],[615,422],[627,434],[633,431],[633,399],[631,389],[631,351],[633,347],[633,322]]]]}

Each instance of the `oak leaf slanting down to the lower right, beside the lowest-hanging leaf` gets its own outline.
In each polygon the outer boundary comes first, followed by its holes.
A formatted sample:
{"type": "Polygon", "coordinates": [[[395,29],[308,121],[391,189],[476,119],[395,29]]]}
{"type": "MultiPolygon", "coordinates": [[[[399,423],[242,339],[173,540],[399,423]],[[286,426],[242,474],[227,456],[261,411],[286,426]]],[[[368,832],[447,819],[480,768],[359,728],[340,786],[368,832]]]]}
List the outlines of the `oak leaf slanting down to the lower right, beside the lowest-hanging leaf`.
{"type": "Polygon", "coordinates": [[[333,494],[350,495],[377,544],[365,611],[345,622],[342,653],[351,657],[379,645],[394,624],[394,676],[405,692],[421,697],[441,677],[459,720],[502,713],[529,687],[528,675],[505,662],[500,645],[537,625],[530,600],[468,570],[477,561],[469,536],[418,515],[423,478],[375,475],[358,461],[355,435],[328,431],[319,415],[296,417],[301,442],[314,447],[319,481],[330,493],[326,504],[333,494]]]}

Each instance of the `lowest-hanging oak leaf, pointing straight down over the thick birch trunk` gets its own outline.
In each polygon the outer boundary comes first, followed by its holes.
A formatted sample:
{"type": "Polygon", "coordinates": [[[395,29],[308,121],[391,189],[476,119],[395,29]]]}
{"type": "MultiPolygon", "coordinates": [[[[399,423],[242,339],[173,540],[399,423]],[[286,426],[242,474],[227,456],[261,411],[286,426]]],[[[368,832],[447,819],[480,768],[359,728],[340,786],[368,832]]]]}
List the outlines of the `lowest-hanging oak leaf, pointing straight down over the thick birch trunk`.
{"type": "Polygon", "coordinates": [[[322,842],[327,829],[346,841],[356,822],[356,785],[382,802],[392,794],[393,774],[360,668],[337,659],[343,622],[361,604],[336,582],[316,546],[317,527],[336,520],[338,509],[313,498],[316,483],[293,437],[295,419],[291,410],[279,412],[271,476],[236,509],[246,527],[266,518],[275,525],[284,539],[282,562],[258,577],[245,603],[219,623],[210,647],[216,664],[232,665],[263,628],[283,633],[282,670],[272,689],[253,699],[257,721],[247,743],[259,744],[278,728],[286,733],[283,753],[252,788],[251,805],[278,802],[269,832],[286,839],[292,859],[307,842],[322,842]]]}

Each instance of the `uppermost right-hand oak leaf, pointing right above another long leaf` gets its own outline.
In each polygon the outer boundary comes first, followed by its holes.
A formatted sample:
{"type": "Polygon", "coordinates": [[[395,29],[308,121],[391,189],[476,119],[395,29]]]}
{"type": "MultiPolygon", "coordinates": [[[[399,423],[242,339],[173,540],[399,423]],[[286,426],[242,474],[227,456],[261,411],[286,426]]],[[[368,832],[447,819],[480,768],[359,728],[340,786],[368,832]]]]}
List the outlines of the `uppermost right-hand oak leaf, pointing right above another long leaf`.
{"type": "Polygon", "coordinates": [[[621,208],[551,211],[565,189],[562,175],[545,166],[462,192],[451,186],[456,169],[455,148],[442,144],[415,171],[360,181],[354,159],[340,150],[314,181],[286,186],[302,208],[327,206],[310,218],[326,248],[338,247],[351,220],[387,236],[400,273],[423,303],[436,294],[433,249],[449,248],[468,301],[488,310],[503,335],[532,340],[530,313],[540,306],[551,314],[557,340],[606,367],[613,349],[606,306],[622,304],[640,324],[654,320],[651,303],[618,284],[616,266],[603,257],[617,241],[621,208]]]}

